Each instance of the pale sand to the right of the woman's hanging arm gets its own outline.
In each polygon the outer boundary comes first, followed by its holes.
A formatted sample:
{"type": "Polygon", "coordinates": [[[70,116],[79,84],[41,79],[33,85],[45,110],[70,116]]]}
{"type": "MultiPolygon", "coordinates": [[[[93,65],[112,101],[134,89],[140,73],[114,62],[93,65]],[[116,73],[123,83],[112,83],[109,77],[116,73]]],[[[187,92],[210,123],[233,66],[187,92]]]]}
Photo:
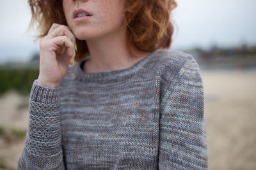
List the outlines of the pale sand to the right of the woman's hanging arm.
{"type": "Polygon", "coordinates": [[[202,71],[209,169],[256,169],[256,71],[202,71]]]}

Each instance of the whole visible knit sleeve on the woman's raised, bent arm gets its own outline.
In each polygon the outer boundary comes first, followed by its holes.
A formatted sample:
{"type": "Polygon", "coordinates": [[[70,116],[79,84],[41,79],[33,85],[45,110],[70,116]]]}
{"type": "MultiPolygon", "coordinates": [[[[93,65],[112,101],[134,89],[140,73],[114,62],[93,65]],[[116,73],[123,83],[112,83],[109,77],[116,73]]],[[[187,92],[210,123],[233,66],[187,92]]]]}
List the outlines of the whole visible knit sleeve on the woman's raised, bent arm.
{"type": "Polygon", "coordinates": [[[17,169],[65,169],[61,150],[61,87],[33,82],[29,97],[29,123],[17,169]]]}

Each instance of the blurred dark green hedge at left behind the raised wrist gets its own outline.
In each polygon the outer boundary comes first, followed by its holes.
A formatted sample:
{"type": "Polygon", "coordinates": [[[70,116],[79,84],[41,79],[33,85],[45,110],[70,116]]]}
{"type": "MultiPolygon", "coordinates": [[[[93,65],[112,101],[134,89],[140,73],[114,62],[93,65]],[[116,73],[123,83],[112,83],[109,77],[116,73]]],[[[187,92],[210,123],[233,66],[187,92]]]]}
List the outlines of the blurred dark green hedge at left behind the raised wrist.
{"type": "Polygon", "coordinates": [[[16,90],[22,95],[29,95],[33,81],[38,78],[39,69],[0,67],[0,96],[8,90],[16,90]]]}

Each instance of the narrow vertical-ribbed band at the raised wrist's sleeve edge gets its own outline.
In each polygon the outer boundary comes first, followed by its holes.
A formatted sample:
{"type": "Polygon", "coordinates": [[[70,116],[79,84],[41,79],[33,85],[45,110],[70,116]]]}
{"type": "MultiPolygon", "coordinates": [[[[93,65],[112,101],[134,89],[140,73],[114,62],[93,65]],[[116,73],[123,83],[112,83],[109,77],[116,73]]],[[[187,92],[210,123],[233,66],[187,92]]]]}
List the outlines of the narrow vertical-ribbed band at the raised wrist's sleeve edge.
{"type": "Polygon", "coordinates": [[[61,86],[56,88],[42,87],[38,85],[37,79],[33,82],[30,99],[36,103],[56,104],[60,103],[61,86]]]}

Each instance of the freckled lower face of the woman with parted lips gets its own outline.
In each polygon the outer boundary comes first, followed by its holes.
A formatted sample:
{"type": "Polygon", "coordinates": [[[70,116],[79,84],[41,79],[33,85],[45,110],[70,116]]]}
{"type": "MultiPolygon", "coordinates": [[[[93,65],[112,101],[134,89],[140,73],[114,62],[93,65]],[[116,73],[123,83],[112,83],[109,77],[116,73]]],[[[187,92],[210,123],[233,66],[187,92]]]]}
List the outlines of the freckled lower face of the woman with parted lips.
{"type": "Polygon", "coordinates": [[[124,3],[125,0],[63,0],[63,10],[76,38],[89,40],[121,29],[124,3]],[[90,16],[81,17],[83,10],[90,16]]]}

